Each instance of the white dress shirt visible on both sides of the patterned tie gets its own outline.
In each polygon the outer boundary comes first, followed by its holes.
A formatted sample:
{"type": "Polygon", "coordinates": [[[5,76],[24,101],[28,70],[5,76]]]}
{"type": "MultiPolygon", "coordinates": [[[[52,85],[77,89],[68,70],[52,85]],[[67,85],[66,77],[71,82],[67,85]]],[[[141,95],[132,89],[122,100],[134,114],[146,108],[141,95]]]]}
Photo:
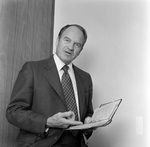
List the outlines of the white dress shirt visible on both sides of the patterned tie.
{"type": "MultiPolygon", "coordinates": [[[[56,63],[56,68],[57,68],[57,71],[58,71],[58,74],[59,74],[59,78],[60,78],[60,81],[61,81],[62,80],[62,75],[64,73],[62,67],[65,64],[59,59],[59,57],[56,54],[54,54],[54,61],[56,63]]],[[[68,66],[69,66],[68,73],[69,73],[71,81],[72,81],[73,90],[74,90],[75,99],[76,99],[78,117],[79,117],[79,120],[80,120],[78,90],[77,90],[77,84],[76,84],[75,74],[74,74],[74,70],[72,68],[72,63],[70,63],[68,66]]]]}

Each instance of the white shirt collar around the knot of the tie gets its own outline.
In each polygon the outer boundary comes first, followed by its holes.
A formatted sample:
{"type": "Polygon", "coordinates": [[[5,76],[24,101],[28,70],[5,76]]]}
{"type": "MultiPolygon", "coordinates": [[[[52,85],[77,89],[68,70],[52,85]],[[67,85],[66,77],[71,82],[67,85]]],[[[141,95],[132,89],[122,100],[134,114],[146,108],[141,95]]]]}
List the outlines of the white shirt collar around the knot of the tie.
{"type": "MultiPolygon", "coordinates": [[[[56,63],[56,67],[57,67],[57,70],[60,71],[62,69],[62,67],[65,65],[60,59],[59,57],[56,55],[56,53],[54,54],[54,61],[56,63]]],[[[69,69],[73,70],[72,69],[72,63],[68,64],[69,66],[69,69]]]]}

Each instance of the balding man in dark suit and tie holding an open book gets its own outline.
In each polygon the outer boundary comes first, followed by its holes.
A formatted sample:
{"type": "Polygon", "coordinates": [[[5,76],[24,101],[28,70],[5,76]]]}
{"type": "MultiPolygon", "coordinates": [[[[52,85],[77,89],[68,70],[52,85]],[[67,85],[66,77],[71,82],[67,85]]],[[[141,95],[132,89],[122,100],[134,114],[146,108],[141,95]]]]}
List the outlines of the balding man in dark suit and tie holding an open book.
{"type": "Polygon", "coordinates": [[[54,55],[22,67],[6,111],[8,121],[20,128],[17,147],[86,146],[83,134],[89,138],[91,130],[66,130],[89,123],[93,114],[91,76],[72,64],[86,40],[83,27],[67,25],[59,32],[54,55]],[[71,79],[76,112],[66,102],[63,74],[71,79]]]}

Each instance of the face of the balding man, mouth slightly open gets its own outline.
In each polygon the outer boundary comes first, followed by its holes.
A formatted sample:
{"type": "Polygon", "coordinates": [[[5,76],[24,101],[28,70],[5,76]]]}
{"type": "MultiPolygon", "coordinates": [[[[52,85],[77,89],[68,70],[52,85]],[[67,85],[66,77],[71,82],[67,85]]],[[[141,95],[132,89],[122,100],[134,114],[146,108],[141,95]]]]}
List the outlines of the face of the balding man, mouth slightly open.
{"type": "Polygon", "coordinates": [[[84,36],[75,26],[67,28],[57,40],[56,54],[65,64],[71,63],[81,52],[84,36]]]}

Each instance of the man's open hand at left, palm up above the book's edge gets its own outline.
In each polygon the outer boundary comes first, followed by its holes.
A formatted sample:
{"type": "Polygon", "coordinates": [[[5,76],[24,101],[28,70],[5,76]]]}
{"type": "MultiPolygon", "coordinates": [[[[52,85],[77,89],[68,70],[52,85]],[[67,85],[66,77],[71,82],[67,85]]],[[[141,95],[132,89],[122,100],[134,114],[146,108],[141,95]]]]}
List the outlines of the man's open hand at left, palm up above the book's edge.
{"type": "Polygon", "coordinates": [[[82,122],[75,121],[75,114],[72,111],[59,112],[47,119],[47,125],[52,128],[68,128],[70,125],[81,125],[82,122]]]}

